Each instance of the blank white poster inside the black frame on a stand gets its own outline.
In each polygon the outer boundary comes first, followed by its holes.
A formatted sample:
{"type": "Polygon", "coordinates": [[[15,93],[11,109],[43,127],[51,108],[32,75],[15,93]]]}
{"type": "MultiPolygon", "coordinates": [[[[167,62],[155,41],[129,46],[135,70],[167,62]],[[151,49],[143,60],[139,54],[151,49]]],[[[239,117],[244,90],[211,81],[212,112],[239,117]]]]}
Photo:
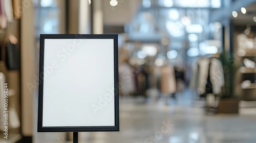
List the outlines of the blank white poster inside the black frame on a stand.
{"type": "Polygon", "coordinates": [[[114,39],[45,39],[42,127],[115,126],[114,39]]]}

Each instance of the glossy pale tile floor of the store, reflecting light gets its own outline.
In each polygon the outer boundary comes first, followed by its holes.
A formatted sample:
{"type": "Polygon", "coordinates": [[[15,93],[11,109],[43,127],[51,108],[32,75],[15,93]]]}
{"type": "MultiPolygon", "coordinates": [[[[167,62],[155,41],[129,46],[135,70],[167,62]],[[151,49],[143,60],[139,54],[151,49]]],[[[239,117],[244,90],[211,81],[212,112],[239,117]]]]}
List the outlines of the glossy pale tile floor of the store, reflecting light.
{"type": "MultiPolygon", "coordinates": [[[[256,108],[241,108],[239,115],[212,115],[189,90],[177,97],[120,98],[120,132],[79,133],[79,142],[256,142],[256,108]]],[[[66,133],[34,133],[34,142],[71,142],[66,138],[66,133]]]]}

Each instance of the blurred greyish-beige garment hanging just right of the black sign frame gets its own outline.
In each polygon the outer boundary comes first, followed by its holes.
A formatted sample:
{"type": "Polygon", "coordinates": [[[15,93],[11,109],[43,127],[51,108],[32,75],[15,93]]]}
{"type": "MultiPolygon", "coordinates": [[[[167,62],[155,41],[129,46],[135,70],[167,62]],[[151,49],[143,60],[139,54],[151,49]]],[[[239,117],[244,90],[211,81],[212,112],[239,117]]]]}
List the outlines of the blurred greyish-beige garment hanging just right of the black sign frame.
{"type": "Polygon", "coordinates": [[[132,67],[127,63],[123,63],[119,67],[119,76],[122,94],[127,95],[134,92],[135,86],[132,67]]]}

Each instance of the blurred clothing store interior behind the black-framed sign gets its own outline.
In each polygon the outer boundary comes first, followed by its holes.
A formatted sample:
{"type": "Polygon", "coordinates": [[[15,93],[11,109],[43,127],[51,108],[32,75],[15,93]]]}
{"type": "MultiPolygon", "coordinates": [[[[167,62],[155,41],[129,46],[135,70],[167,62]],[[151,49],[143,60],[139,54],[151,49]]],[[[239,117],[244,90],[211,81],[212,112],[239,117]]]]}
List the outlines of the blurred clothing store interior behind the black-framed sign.
{"type": "Polygon", "coordinates": [[[0,142],[72,142],[72,133],[37,133],[40,34],[113,33],[120,132],[83,132],[79,142],[255,142],[256,0],[0,5],[1,114],[9,89],[9,136],[0,116],[0,142]]]}

